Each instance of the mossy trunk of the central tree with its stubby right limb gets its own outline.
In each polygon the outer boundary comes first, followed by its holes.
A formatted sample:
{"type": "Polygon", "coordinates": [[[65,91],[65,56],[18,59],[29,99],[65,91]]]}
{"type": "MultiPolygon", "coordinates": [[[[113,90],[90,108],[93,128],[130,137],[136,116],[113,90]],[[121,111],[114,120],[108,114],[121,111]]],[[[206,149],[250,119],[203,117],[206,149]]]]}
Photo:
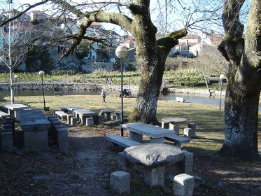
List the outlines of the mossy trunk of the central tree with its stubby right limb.
{"type": "Polygon", "coordinates": [[[178,43],[178,38],[185,36],[187,31],[185,29],[175,31],[157,41],[157,28],[150,20],[149,4],[149,0],[136,0],[129,6],[134,15],[132,33],[136,38],[136,55],[141,67],[141,80],[134,112],[127,120],[156,125],[158,124],[157,99],[167,55],[178,43]]]}

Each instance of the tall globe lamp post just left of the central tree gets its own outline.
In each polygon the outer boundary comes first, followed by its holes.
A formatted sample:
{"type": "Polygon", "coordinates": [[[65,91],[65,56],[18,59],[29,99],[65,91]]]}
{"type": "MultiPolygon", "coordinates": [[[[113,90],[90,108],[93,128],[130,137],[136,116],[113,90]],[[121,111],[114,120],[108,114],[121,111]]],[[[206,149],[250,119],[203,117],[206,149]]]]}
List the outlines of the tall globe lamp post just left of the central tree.
{"type": "MultiPolygon", "coordinates": [[[[121,106],[121,111],[120,111],[120,124],[123,124],[123,76],[122,76],[122,72],[123,72],[123,68],[122,68],[122,59],[125,58],[127,56],[127,52],[128,52],[128,48],[125,47],[124,45],[119,45],[116,50],[115,50],[115,54],[118,58],[120,58],[120,97],[121,97],[121,102],[122,102],[122,106],[121,106]]],[[[123,136],[123,128],[120,127],[120,134],[121,136],[123,136]]]]}

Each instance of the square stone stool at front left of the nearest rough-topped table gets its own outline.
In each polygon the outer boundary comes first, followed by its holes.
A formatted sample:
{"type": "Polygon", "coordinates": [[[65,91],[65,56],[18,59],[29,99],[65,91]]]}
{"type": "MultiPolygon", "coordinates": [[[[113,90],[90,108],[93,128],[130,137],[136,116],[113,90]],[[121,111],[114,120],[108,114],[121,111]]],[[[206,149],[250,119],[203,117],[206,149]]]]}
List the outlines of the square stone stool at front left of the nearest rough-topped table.
{"type": "Polygon", "coordinates": [[[122,171],[111,173],[110,188],[113,192],[118,194],[129,193],[130,174],[122,171]]]}

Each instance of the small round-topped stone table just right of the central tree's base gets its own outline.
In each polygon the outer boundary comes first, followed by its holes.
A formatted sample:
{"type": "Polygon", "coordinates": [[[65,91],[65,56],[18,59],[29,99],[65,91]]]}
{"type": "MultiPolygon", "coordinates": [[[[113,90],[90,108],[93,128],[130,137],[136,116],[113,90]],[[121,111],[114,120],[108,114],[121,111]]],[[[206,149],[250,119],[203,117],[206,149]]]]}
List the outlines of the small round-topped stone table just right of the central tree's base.
{"type": "Polygon", "coordinates": [[[173,130],[176,135],[179,135],[179,125],[186,121],[185,118],[162,118],[162,128],[173,130]]]}

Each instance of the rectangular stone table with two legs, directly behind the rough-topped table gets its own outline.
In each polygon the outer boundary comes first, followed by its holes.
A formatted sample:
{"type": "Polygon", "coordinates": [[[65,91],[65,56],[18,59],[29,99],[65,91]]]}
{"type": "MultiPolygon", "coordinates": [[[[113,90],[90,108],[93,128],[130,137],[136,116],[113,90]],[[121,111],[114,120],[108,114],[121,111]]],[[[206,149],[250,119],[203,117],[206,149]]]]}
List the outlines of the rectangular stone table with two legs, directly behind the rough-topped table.
{"type": "Polygon", "coordinates": [[[150,137],[150,143],[163,144],[164,137],[174,134],[174,132],[170,130],[148,125],[146,123],[128,123],[122,124],[121,127],[129,130],[129,139],[140,143],[143,142],[143,135],[150,137]]]}

